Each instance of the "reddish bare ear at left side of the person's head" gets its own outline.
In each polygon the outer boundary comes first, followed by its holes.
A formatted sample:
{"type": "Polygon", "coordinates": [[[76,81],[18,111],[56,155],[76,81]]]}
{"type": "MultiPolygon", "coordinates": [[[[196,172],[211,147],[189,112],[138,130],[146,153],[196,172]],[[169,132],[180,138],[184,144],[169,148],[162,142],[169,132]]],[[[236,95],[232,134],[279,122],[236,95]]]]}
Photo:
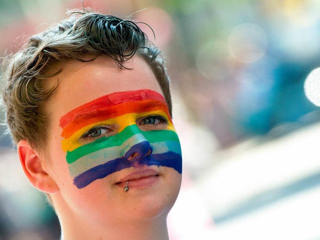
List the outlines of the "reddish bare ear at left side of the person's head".
{"type": "Polygon", "coordinates": [[[55,193],[59,190],[53,178],[43,170],[43,161],[38,152],[27,140],[18,142],[17,151],[24,174],[35,188],[46,193],[55,193]]]}

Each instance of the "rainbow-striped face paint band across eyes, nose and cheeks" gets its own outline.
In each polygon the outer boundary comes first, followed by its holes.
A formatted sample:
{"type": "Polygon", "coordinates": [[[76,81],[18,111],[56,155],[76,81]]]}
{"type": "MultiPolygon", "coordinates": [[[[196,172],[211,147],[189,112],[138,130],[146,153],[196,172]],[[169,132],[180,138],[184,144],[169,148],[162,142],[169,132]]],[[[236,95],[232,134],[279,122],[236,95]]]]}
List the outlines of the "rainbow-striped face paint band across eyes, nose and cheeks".
{"type": "Polygon", "coordinates": [[[158,92],[141,89],[102,96],[66,113],[60,126],[62,149],[78,188],[143,164],[182,171],[179,139],[158,92]]]}

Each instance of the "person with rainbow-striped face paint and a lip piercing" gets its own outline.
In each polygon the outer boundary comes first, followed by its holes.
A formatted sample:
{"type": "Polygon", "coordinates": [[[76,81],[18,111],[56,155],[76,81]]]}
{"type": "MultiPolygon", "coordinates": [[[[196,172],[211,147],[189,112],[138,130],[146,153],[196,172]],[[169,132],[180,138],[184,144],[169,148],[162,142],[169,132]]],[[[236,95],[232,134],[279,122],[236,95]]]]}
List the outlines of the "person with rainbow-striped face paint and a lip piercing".
{"type": "Polygon", "coordinates": [[[84,9],[4,60],[2,102],[61,239],[168,239],[181,183],[169,77],[133,21],[84,9]]]}

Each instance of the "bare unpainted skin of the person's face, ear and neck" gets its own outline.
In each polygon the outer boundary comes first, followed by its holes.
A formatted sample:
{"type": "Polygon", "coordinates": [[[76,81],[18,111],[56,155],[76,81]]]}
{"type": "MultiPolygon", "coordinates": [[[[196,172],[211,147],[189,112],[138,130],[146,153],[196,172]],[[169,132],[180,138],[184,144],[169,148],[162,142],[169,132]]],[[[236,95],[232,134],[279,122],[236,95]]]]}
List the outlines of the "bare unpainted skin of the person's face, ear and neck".
{"type": "Polygon", "coordinates": [[[152,165],[159,172],[156,181],[124,192],[124,185],[115,183],[135,170],[129,167],[78,189],[61,147],[59,120],[72,109],[113,92],[150,89],[162,94],[142,59],[133,57],[126,66],[133,69],[119,71],[106,56],[63,64],[62,72],[48,79],[53,85],[58,78],[59,85],[45,106],[49,116],[46,150],[36,151],[26,140],[18,143],[20,162],[29,181],[50,194],[63,240],[168,239],[166,216],[179,191],[180,173],[171,167],[152,165]]]}

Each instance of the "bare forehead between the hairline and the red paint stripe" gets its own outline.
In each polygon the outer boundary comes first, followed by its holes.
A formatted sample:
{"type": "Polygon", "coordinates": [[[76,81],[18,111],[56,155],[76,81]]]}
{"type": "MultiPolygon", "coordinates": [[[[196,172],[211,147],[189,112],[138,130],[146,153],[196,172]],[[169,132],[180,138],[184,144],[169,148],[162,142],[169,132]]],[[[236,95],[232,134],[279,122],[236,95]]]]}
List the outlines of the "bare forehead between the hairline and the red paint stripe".
{"type": "Polygon", "coordinates": [[[59,118],[72,109],[114,92],[150,89],[162,95],[161,88],[148,64],[134,56],[125,62],[131,69],[119,70],[107,56],[89,62],[69,61],[51,81],[58,80],[56,94],[47,103],[47,111],[59,118]]]}

